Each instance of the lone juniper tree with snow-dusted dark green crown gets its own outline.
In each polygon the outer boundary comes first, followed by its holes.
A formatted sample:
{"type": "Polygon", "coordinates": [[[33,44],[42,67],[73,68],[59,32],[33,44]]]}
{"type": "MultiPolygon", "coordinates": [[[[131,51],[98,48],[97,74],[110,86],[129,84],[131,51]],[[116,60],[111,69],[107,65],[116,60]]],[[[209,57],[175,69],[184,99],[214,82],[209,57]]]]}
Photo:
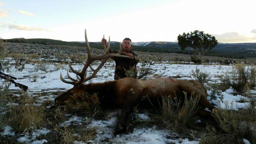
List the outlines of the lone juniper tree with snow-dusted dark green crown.
{"type": "Polygon", "coordinates": [[[196,63],[201,63],[201,57],[207,52],[212,50],[218,44],[214,36],[205,34],[204,31],[195,30],[190,33],[183,33],[178,36],[178,44],[181,50],[186,47],[195,49],[195,55],[191,56],[191,60],[196,63]],[[198,57],[197,57],[197,56],[198,57]]]}

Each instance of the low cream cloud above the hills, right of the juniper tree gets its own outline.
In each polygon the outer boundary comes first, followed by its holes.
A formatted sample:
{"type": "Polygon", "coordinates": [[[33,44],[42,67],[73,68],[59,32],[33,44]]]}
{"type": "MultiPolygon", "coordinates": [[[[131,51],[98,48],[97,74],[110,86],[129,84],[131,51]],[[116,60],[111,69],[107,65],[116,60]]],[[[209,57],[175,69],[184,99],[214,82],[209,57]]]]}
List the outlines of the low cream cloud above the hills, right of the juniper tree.
{"type": "MultiPolygon", "coordinates": [[[[251,31],[252,32],[252,31],[251,31]]],[[[219,42],[237,43],[255,41],[256,37],[248,37],[237,32],[227,32],[221,35],[213,35],[219,42]]]]}

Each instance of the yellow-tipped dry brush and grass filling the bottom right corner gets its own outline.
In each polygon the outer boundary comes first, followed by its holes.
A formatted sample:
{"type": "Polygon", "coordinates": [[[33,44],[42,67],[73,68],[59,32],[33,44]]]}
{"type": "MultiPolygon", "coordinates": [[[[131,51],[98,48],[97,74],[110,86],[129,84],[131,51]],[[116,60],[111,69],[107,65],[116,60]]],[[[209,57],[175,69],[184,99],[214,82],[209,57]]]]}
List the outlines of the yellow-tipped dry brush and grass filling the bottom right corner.
{"type": "Polygon", "coordinates": [[[249,106],[247,109],[228,110],[216,108],[213,110],[219,130],[208,126],[202,136],[201,143],[243,143],[243,139],[256,143],[256,109],[249,106]]]}

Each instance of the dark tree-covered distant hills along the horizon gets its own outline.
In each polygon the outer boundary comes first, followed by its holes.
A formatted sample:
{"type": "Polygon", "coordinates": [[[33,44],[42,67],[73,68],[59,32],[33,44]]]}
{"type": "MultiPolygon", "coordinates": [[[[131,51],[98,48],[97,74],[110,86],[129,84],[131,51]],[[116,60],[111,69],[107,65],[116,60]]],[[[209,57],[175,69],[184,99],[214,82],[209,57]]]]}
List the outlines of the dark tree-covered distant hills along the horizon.
{"type": "MultiPolygon", "coordinates": [[[[13,38],[5,39],[7,42],[14,43],[29,43],[29,44],[55,44],[55,45],[70,45],[70,46],[85,46],[85,42],[66,42],[53,39],[25,39],[13,38]]],[[[100,42],[89,42],[93,48],[102,49],[100,42]]],[[[111,42],[112,49],[119,49],[119,42],[111,42]]],[[[135,42],[132,43],[134,51],[142,52],[165,52],[165,53],[185,53],[192,54],[191,48],[181,51],[177,42],[135,42]]],[[[219,43],[206,55],[230,57],[230,58],[245,58],[256,57],[256,43],[219,43]]]]}

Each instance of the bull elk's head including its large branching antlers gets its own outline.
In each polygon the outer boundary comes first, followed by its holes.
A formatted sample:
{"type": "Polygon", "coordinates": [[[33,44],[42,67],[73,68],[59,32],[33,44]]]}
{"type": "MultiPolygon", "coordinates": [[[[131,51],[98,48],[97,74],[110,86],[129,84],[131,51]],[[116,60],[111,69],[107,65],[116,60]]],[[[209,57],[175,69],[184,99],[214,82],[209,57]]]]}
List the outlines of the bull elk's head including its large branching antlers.
{"type": "MultiPolygon", "coordinates": [[[[93,56],[92,53],[91,53],[91,49],[90,49],[90,46],[89,46],[89,42],[87,40],[87,35],[86,35],[86,29],[85,29],[85,32],[84,32],[84,37],[85,37],[85,43],[86,43],[86,48],[87,48],[87,60],[86,60],[86,63],[84,65],[84,68],[82,69],[81,72],[78,72],[76,70],[74,70],[68,60],[68,66],[69,68],[71,69],[71,71],[73,73],[76,74],[76,78],[77,79],[74,79],[72,78],[71,76],[69,76],[68,74],[68,69],[67,69],[67,76],[70,80],[72,81],[67,81],[63,78],[62,74],[60,73],[60,80],[64,83],[67,83],[67,84],[72,84],[74,85],[74,87],[72,89],[69,89],[67,92],[64,92],[62,95],[58,96],[56,99],[55,99],[55,102],[60,102],[60,103],[64,103],[66,100],[68,100],[69,98],[69,95],[72,95],[76,92],[84,92],[84,83],[89,81],[90,79],[94,78],[97,74],[97,72],[100,70],[100,68],[105,64],[105,62],[111,58],[111,57],[124,57],[124,58],[130,58],[129,56],[126,56],[127,53],[126,52],[123,52],[122,51],[122,48],[121,48],[121,43],[120,43],[120,47],[119,47],[119,52],[117,53],[110,53],[109,52],[109,48],[110,48],[110,37],[108,39],[108,47],[106,47],[105,44],[103,44],[103,48],[104,48],[104,54],[103,55],[95,55],[93,56]],[[95,61],[95,60],[101,60],[101,63],[99,65],[98,68],[96,69],[93,69],[90,64],[95,61]],[[86,70],[87,68],[90,67],[93,74],[89,77],[86,77],[86,70]]],[[[104,35],[103,35],[103,38],[104,38],[104,35]]]]}

